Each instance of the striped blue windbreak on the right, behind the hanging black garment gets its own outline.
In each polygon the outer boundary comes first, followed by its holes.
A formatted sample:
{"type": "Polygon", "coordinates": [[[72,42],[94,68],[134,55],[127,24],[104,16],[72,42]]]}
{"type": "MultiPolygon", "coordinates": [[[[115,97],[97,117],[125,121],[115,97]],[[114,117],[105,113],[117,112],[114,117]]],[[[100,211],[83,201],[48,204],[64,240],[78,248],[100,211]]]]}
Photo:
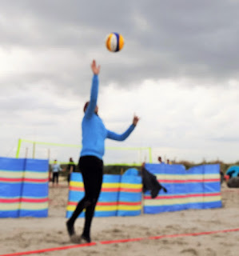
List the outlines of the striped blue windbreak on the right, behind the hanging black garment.
{"type": "Polygon", "coordinates": [[[168,190],[168,193],[161,190],[154,199],[145,193],[145,214],[221,207],[219,165],[195,166],[185,170],[179,165],[146,164],[145,168],[155,174],[158,182],[168,190]]]}

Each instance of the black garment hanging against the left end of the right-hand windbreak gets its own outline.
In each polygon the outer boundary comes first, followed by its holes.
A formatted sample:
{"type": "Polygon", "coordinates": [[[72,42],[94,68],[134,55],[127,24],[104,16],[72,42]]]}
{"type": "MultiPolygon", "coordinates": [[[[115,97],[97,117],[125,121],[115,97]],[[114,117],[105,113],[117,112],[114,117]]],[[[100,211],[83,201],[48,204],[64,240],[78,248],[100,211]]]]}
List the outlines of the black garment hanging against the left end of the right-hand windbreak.
{"type": "Polygon", "coordinates": [[[161,186],[159,182],[157,182],[157,178],[155,175],[149,173],[148,170],[146,170],[144,167],[141,169],[141,175],[142,175],[142,182],[143,182],[143,191],[150,191],[151,198],[156,198],[157,194],[161,189],[163,189],[165,192],[167,190],[164,186],[161,186]]]}

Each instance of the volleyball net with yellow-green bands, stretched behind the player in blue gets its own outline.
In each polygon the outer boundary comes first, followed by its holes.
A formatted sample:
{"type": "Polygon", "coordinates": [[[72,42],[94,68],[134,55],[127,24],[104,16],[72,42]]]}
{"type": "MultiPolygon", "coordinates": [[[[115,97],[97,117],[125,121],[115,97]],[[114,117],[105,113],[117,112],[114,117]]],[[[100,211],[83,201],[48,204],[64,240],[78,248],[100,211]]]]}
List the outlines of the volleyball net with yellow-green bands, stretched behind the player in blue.
{"type": "MultiPolygon", "coordinates": [[[[24,138],[18,139],[16,158],[58,160],[60,164],[68,164],[69,159],[78,161],[82,146],[53,142],[37,142],[24,138]]],[[[141,166],[142,162],[152,162],[151,147],[106,146],[105,165],[141,166]]]]}

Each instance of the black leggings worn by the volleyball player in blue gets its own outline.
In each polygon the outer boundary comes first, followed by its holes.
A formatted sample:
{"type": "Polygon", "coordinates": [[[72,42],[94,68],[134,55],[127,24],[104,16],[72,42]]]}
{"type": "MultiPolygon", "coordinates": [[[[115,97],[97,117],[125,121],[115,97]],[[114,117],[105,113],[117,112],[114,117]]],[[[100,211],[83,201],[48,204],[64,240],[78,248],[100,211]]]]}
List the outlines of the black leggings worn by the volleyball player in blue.
{"type": "Polygon", "coordinates": [[[90,225],[94,217],[94,208],[98,202],[98,197],[102,189],[103,162],[94,156],[85,156],[79,159],[79,169],[85,187],[85,196],[74,210],[69,222],[74,225],[78,215],[86,208],[85,226],[83,235],[90,238],[90,225]]]}

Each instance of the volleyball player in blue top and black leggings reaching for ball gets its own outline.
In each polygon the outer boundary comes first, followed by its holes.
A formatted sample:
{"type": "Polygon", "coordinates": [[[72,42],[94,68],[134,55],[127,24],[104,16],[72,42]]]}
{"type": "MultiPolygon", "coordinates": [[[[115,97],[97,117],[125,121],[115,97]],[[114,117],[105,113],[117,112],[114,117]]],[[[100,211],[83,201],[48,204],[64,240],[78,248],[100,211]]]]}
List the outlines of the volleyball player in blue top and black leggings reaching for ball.
{"type": "Polygon", "coordinates": [[[90,102],[86,102],[84,106],[84,118],[82,120],[82,151],[79,159],[79,170],[82,172],[82,178],[85,187],[85,196],[74,210],[71,218],[66,222],[67,231],[72,242],[76,236],[74,230],[74,222],[82,210],[86,209],[85,226],[80,237],[83,242],[91,242],[90,226],[94,217],[94,208],[98,202],[98,197],[102,188],[103,178],[103,155],[105,153],[105,139],[110,138],[117,141],[123,141],[128,138],[129,134],[134,130],[139,118],[133,117],[133,123],[123,134],[116,134],[111,130],[107,130],[102,118],[98,116],[98,74],[100,66],[93,61],[91,64],[93,71],[93,80],[90,90],[90,102]]]}

